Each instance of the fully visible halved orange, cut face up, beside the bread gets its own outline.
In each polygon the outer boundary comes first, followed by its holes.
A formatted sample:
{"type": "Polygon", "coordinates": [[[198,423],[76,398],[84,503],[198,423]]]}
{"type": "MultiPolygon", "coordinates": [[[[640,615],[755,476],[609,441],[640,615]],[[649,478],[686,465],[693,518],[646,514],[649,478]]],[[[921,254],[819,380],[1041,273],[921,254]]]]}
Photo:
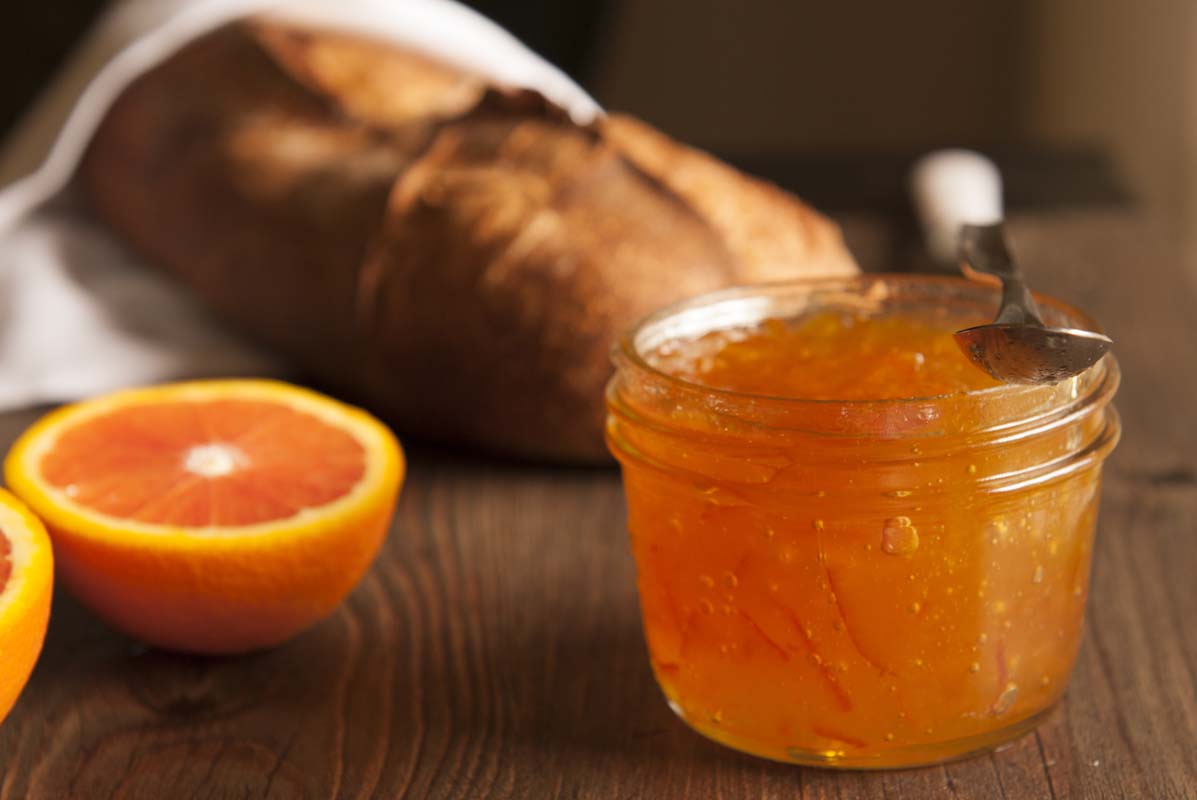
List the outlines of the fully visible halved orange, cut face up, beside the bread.
{"type": "Polygon", "coordinates": [[[278,644],[350,593],[389,527],[399,442],[277,381],[117,392],[49,413],[5,479],[47,523],[67,587],[148,644],[278,644]]]}

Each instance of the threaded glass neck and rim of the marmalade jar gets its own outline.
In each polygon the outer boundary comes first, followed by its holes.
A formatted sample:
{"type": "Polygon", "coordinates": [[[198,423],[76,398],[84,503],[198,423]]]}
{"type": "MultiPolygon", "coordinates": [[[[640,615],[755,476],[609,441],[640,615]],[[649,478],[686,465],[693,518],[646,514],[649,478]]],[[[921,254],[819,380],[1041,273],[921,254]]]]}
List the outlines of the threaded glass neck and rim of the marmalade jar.
{"type": "MultiPolygon", "coordinates": [[[[1039,296],[1045,321],[1096,329],[1084,314],[1039,296]]],[[[883,315],[992,314],[996,289],[958,278],[861,275],[745,286],[705,295],[645,319],[613,349],[616,374],[608,386],[608,440],[620,459],[660,462],[668,469],[711,471],[740,454],[749,483],[778,465],[814,461],[826,468],[859,468],[867,460],[885,483],[888,468],[934,465],[974,455],[961,475],[986,491],[1062,478],[1100,461],[1117,442],[1110,405],[1119,370],[1107,356],[1055,386],[1002,384],[929,398],[824,400],[746,394],[672,375],[651,353],[672,341],[797,317],[819,310],[883,315]],[[970,462],[972,463],[972,461],[970,462]],[[752,475],[755,475],[753,478],[752,475]]],[[[901,491],[901,490],[895,490],[901,491]]]]}

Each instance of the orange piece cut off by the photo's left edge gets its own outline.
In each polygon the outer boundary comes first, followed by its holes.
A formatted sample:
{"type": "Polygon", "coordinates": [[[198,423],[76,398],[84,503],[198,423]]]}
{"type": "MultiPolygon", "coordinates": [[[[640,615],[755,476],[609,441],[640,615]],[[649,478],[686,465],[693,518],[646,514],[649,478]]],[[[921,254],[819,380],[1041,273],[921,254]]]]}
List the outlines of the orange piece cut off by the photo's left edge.
{"type": "Polygon", "coordinates": [[[53,589],[54,557],[45,528],[0,489],[0,722],[42,651],[53,589]]]}

